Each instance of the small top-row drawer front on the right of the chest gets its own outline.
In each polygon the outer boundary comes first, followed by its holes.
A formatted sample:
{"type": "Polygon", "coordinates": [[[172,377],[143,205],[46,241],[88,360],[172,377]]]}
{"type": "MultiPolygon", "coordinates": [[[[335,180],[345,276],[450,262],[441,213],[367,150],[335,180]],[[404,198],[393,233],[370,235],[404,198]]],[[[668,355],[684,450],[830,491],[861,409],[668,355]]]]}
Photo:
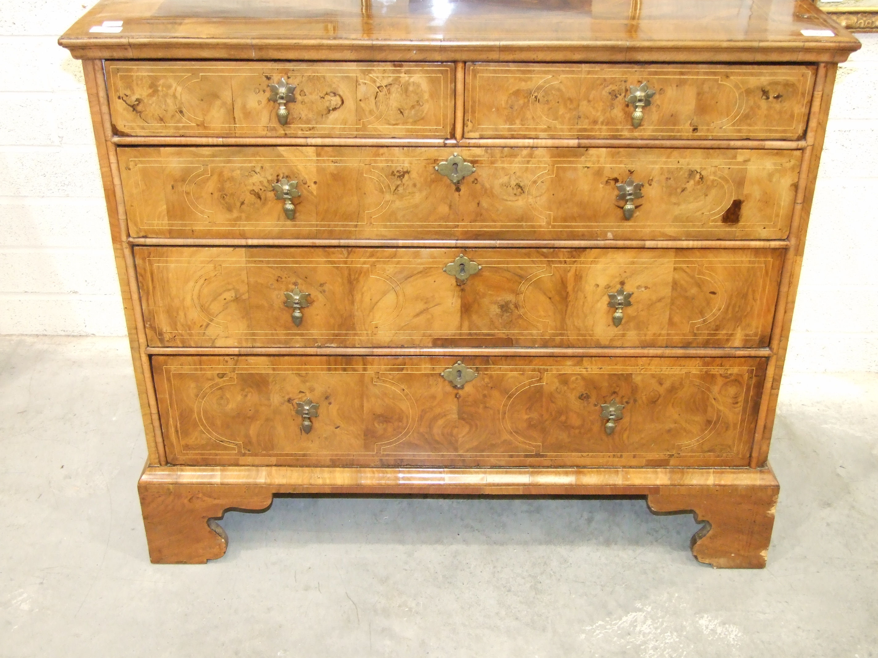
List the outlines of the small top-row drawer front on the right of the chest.
{"type": "Polygon", "coordinates": [[[801,139],[815,75],[806,66],[470,64],[465,135],[801,139]]]}

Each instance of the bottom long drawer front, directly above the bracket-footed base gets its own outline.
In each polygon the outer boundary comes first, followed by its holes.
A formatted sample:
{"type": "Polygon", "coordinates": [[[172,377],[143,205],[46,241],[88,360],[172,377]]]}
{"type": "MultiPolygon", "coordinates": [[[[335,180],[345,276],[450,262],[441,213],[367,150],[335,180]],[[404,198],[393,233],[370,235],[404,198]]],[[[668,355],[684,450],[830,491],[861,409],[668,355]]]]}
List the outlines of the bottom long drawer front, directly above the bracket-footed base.
{"type": "Polygon", "coordinates": [[[765,373],[752,358],[467,357],[455,388],[456,361],[155,356],[168,459],[744,466],[765,373]]]}

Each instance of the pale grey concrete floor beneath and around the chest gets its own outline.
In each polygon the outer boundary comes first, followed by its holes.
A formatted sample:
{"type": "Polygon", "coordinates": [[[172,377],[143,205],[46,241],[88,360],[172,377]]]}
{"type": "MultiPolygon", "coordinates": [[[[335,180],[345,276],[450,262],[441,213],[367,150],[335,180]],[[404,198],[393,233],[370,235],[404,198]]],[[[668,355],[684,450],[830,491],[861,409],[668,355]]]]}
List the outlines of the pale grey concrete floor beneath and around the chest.
{"type": "Polygon", "coordinates": [[[642,500],[279,498],[148,561],[126,341],[0,339],[0,656],[878,656],[878,375],[788,375],[763,571],[642,500]]]}

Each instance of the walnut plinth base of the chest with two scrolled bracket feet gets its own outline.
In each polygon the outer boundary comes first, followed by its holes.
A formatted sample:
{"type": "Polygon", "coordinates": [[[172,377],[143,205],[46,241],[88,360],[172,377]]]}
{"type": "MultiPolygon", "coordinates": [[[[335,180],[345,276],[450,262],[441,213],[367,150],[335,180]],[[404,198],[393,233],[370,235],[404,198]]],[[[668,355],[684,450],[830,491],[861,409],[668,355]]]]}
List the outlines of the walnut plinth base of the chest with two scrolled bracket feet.
{"type": "Polygon", "coordinates": [[[216,520],[261,509],[274,494],[647,496],[654,511],[694,510],[699,561],[761,568],[778,483],[771,468],[147,468],[138,483],[154,562],[204,563],[225,553],[216,520]]]}

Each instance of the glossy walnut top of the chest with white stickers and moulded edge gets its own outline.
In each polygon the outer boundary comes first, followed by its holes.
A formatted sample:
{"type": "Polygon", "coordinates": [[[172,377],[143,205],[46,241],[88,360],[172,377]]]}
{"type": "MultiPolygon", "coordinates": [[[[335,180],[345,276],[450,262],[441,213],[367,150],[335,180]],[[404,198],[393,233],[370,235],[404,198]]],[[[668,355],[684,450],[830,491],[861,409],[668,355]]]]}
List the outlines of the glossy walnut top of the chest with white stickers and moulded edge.
{"type": "Polygon", "coordinates": [[[808,0],[101,0],[78,58],[845,61],[808,0]]]}

